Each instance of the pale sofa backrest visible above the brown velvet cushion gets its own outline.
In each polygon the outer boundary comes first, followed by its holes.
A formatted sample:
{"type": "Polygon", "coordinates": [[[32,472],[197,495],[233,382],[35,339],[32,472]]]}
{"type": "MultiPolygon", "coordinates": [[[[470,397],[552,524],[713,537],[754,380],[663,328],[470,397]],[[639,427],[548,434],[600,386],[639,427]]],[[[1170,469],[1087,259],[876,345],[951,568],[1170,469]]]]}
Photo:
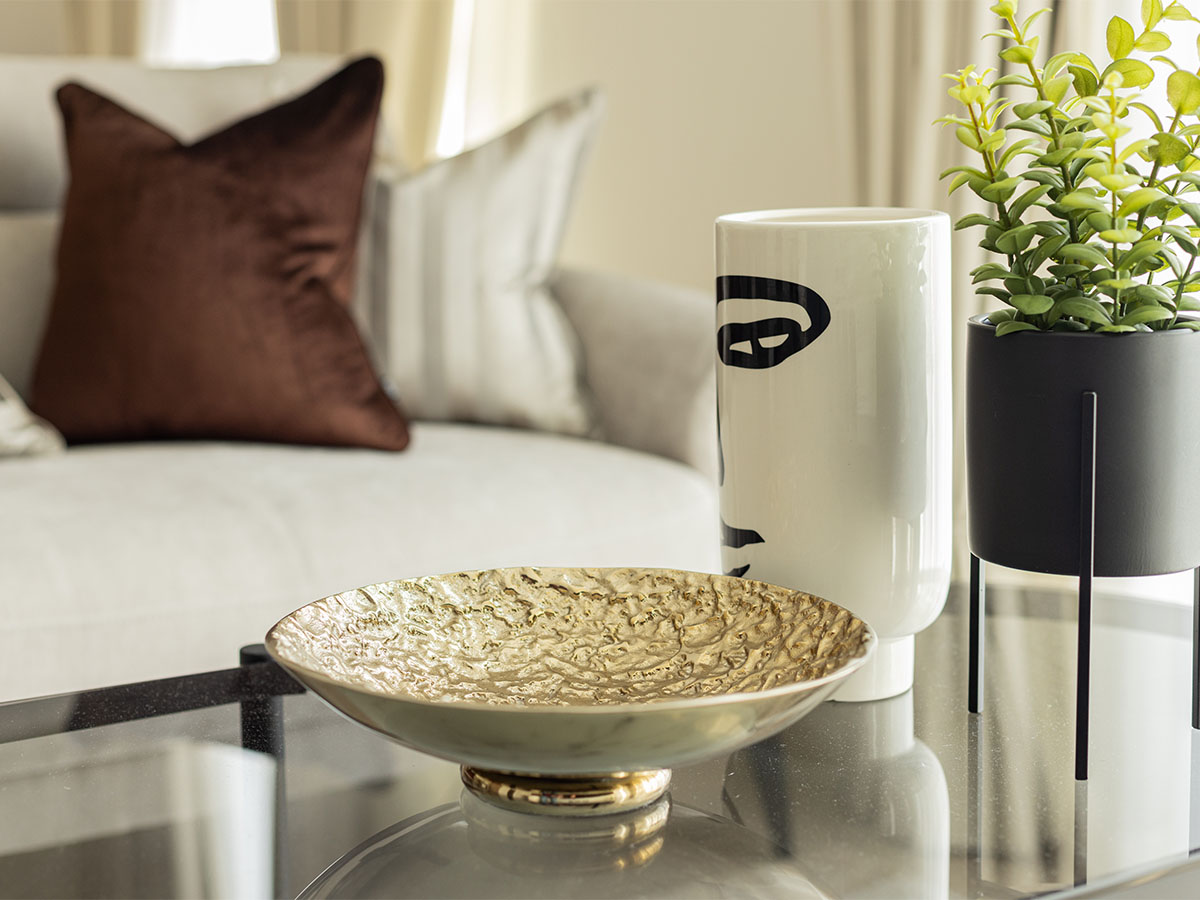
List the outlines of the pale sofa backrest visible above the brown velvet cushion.
{"type": "Polygon", "coordinates": [[[266,66],[148,68],[100,56],[0,55],[0,208],[58,206],[66,184],[54,91],[86,83],[185,144],[296,94],[342,65],[337,56],[287,56],[266,66]]]}

